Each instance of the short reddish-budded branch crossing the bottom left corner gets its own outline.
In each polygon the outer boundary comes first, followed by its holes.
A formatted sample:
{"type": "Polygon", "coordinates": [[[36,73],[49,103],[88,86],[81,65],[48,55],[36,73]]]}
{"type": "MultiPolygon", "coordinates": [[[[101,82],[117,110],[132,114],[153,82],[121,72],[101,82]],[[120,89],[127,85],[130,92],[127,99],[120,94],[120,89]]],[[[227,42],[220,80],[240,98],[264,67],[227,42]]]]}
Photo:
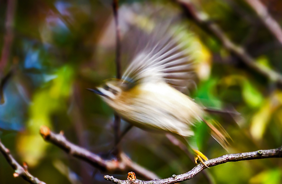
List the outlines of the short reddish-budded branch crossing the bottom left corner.
{"type": "MultiPolygon", "coordinates": [[[[21,176],[24,180],[32,184],[46,184],[45,182],[41,182],[38,178],[35,178],[31,175],[26,168],[23,168],[11,155],[10,150],[7,149],[2,142],[0,141],[0,152],[3,154],[7,162],[11,165],[11,167],[15,170],[13,174],[14,177],[21,176]]],[[[25,165],[25,164],[24,164],[25,165]]]]}

